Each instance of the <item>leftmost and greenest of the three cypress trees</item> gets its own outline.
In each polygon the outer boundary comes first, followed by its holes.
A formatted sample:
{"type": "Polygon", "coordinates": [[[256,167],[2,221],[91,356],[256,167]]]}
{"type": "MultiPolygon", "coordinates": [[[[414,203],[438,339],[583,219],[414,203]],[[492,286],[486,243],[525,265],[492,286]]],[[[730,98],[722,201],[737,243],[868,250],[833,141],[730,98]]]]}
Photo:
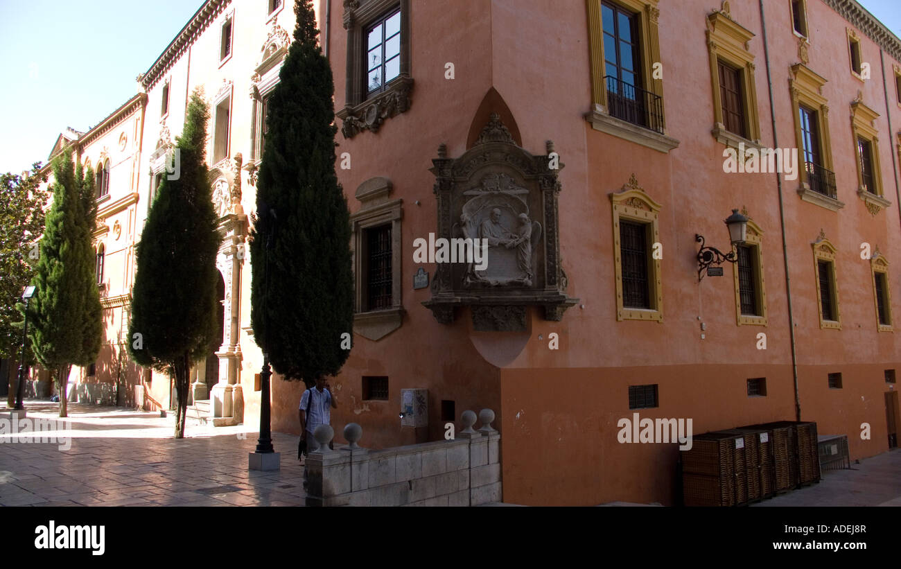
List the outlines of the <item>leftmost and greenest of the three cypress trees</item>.
{"type": "Polygon", "coordinates": [[[96,360],[103,322],[91,245],[96,206],[88,203],[94,199],[94,176],[75,167],[67,151],[54,160],[53,177],[53,204],[29,303],[29,336],[38,361],[56,379],[59,416],[66,417],[69,371],[73,364],[96,360]]]}

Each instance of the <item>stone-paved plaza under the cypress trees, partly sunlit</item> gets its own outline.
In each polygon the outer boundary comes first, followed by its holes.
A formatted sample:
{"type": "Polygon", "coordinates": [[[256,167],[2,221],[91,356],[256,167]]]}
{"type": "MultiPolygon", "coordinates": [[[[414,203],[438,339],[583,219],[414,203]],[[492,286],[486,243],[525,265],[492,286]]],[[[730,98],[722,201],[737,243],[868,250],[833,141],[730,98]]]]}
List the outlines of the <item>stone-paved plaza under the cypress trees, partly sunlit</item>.
{"type": "MultiPolygon", "coordinates": [[[[59,419],[59,403],[25,402],[29,419],[59,419]]],[[[259,429],[198,426],[172,437],[175,417],[159,412],[68,404],[71,437],[57,442],[11,442],[0,435],[2,506],[302,506],[303,466],[297,438],[273,433],[278,472],[249,471],[247,454],[259,429]]],[[[8,418],[0,404],[0,419],[8,418]]],[[[192,424],[194,423],[194,424],[192,424]]]]}

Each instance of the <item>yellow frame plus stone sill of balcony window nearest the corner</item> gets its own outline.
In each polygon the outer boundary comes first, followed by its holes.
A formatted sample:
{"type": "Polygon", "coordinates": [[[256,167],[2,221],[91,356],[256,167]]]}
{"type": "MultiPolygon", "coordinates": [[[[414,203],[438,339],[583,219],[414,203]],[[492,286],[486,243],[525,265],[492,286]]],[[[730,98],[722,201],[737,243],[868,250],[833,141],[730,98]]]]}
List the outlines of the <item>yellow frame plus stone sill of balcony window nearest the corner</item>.
{"type": "MultiPolygon", "coordinates": [[[[642,85],[648,86],[655,95],[660,95],[660,110],[666,116],[663,98],[663,79],[654,77],[653,64],[660,62],[660,29],[658,20],[659,0],[614,0],[618,5],[637,14],[639,41],[642,49],[642,85]]],[[[596,131],[606,132],[642,146],[669,152],[679,145],[679,141],[650,131],[631,122],[617,119],[607,113],[607,88],[605,85],[604,24],[601,21],[599,0],[586,0],[588,11],[588,38],[591,55],[591,111],[586,119],[596,131]]],[[[665,120],[664,120],[665,123],[665,120]]]]}

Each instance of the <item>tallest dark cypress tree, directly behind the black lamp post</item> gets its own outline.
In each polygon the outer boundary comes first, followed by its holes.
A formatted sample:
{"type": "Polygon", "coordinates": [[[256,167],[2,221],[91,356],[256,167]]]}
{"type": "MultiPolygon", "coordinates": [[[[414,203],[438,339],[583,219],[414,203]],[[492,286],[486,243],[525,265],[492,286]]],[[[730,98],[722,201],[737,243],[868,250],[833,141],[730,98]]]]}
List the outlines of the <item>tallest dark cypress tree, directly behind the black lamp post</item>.
{"type": "Polygon", "coordinates": [[[350,354],[341,334],[352,330],[353,274],[350,212],[334,171],[332,69],[310,0],[297,0],[295,14],[295,41],[268,102],[250,319],[275,371],[309,384],[336,375],[350,354]]]}

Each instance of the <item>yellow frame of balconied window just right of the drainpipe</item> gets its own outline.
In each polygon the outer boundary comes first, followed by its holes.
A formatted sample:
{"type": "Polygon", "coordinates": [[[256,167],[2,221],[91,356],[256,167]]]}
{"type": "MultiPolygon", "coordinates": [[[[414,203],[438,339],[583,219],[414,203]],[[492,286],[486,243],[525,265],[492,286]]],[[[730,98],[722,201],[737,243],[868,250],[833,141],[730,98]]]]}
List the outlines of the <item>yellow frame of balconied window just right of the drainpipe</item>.
{"type": "Polygon", "coordinates": [[[823,154],[823,164],[820,166],[834,172],[833,167],[833,147],[832,137],[829,134],[829,105],[823,96],[823,86],[826,79],[820,77],[811,68],[803,63],[796,63],[791,67],[791,77],[788,79],[788,92],[791,94],[792,111],[795,115],[795,145],[798,151],[798,188],[797,194],[802,200],[808,203],[814,203],[827,210],[837,212],[844,203],[830,197],[820,194],[810,189],[810,182],[807,180],[807,171],[802,167],[804,161],[804,138],[801,134],[801,117],[800,107],[802,104],[811,107],[817,113],[819,124],[819,140],[820,149],[823,154]]]}

